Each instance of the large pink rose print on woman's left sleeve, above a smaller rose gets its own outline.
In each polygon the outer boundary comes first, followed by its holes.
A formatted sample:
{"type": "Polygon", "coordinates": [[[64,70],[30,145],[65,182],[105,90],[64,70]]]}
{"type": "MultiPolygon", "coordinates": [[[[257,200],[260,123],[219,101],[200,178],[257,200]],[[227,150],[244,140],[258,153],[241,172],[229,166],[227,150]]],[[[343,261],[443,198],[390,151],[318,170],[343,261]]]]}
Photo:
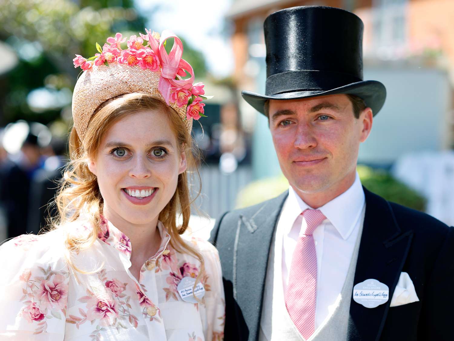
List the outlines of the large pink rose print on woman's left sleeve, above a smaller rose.
{"type": "Polygon", "coordinates": [[[46,305],[64,309],[68,296],[68,286],[64,283],[64,276],[55,274],[48,281],[41,281],[37,296],[46,305]]]}

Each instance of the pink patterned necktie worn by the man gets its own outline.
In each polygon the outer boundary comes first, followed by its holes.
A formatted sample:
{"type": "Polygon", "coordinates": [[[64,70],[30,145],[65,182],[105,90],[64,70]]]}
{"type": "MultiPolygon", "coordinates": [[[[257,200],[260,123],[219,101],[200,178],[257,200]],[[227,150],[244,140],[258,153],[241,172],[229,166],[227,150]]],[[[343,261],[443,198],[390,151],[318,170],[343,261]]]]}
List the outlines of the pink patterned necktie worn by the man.
{"type": "Polygon", "coordinates": [[[319,210],[305,210],[302,215],[307,227],[293,252],[285,303],[291,321],[307,340],[315,331],[317,255],[312,233],[326,216],[319,210]]]}

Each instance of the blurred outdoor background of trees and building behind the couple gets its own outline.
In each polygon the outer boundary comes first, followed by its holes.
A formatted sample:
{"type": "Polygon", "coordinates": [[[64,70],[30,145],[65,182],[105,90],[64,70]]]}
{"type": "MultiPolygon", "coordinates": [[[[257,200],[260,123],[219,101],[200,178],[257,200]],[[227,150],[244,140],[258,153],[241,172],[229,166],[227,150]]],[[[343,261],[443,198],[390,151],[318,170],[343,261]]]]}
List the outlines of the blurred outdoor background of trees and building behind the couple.
{"type": "Polygon", "coordinates": [[[388,95],[360,148],[363,185],[454,225],[452,0],[0,0],[0,241],[44,226],[68,159],[80,71],[72,59],[116,32],[173,30],[214,95],[203,130],[193,128],[204,157],[202,218],[193,219],[202,235],[210,217],[285,191],[267,120],[241,90],[264,93],[263,21],[297,5],[340,7],[365,24],[364,79],[388,95]]]}

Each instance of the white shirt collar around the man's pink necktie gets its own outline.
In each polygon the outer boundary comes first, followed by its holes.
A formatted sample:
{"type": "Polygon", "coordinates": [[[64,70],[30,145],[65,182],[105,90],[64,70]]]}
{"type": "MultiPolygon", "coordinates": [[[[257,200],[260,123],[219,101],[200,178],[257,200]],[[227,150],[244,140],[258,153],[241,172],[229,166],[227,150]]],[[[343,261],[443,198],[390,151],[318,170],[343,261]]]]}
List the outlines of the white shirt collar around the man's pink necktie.
{"type": "MultiPolygon", "coordinates": [[[[365,204],[363,187],[361,186],[360,176],[356,172],[355,182],[348,190],[327,202],[318,209],[326,216],[331,224],[336,228],[344,240],[346,240],[356,226],[360,218],[361,211],[365,204]]],[[[306,209],[311,209],[300,196],[296,194],[293,188],[289,188],[283,214],[288,216],[291,224],[286,224],[285,234],[288,234],[296,218],[306,209]]]]}

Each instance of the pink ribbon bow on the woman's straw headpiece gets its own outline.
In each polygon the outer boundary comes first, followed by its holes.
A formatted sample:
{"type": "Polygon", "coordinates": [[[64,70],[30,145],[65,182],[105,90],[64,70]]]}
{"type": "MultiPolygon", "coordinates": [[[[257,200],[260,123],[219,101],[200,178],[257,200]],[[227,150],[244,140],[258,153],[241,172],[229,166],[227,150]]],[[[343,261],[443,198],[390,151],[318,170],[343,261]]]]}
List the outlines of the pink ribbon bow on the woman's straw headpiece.
{"type": "MultiPolygon", "coordinates": [[[[154,39],[153,41],[155,42],[154,39]]],[[[155,50],[155,46],[152,45],[151,48],[153,51],[155,50]]],[[[189,65],[186,60],[181,58],[182,55],[183,44],[181,43],[180,38],[178,38],[170,30],[163,30],[161,40],[159,42],[159,59],[161,61],[162,73],[161,78],[159,78],[158,90],[161,92],[161,95],[163,95],[167,104],[169,104],[170,88],[177,87],[188,90],[191,88],[192,82],[194,81],[194,70],[192,70],[192,66],[189,65]],[[175,40],[169,54],[167,54],[164,47],[164,41],[168,38],[174,38],[175,40]],[[188,71],[191,77],[184,80],[175,79],[177,74],[182,74],[181,70],[183,70],[183,73],[184,70],[188,71]]]]}

